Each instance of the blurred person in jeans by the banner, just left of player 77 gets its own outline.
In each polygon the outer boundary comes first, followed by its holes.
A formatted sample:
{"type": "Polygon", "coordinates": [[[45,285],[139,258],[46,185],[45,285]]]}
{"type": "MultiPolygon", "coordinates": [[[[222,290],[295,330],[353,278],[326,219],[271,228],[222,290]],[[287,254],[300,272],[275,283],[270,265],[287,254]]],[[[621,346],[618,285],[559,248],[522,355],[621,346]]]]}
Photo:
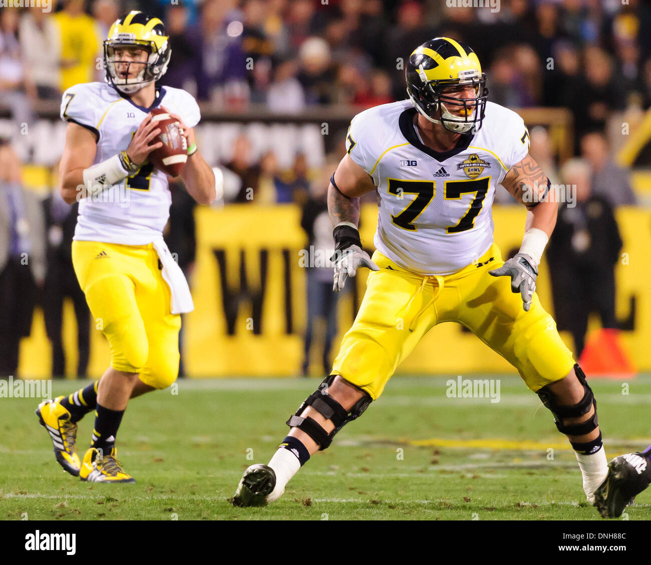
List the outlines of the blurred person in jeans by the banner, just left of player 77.
{"type": "Polygon", "coordinates": [[[301,227],[308,239],[306,258],[307,274],[307,321],[305,340],[303,342],[303,363],[301,376],[309,376],[310,350],[314,338],[314,324],[318,318],[325,318],[326,333],[323,338],[323,350],[320,357],[322,375],[330,373],[330,350],[337,335],[337,299],[339,293],[332,291],[333,268],[329,258],[335,252],[335,240],[332,237],[332,225],[327,211],[327,187],[329,178],[337,167],[337,162],[329,162],[324,167],[322,178],[311,184],[310,197],[303,204],[301,227]]]}

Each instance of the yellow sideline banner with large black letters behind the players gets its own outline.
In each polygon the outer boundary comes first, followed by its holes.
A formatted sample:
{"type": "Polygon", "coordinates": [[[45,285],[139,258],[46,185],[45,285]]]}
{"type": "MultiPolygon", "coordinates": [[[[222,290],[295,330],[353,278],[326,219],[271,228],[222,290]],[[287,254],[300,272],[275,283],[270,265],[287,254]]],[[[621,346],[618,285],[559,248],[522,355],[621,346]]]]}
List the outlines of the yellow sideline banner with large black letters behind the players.
{"type": "MultiPolygon", "coordinates": [[[[190,286],[195,310],[184,317],[184,360],[192,377],[288,376],[298,374],[305,329],[305,269],[301,249],[306,238],[299,227],[300,210],[293,205],[232,205],[222,210],[197,208],[197,261],[190,286]]],[[[518,249],[525,210],[518,206],[493,207],[495,241],[503,256],[518,249]]],[[[651,370],[651,212],[637,208],[618,211],[624,240],[616,266],[616,314],[625,322],[622,341],[641,371],[651,370]]],[[[361,236],[372,249],[377,208],[361,211],[361,236]]],[[[339,335],[353,321],[363,296],[367,273],[354,281],[357,292],[339,300],[339,335]],[[356,296],[355,296],[356,294],[356,296]]],[[[349,281],[348,284],[350,284],[349,281]]],[[[352,285],[350,285],[352,286],[352,285]]],[[[537,292],[553,313],[549,271],[543,260],[537,292]]],[[[591,319],[589,331],[599,327],[591,319]]],[[[100,376],[109,362],[109,348],[102,333],[92,330],[89,372],[100,376]]],[[[562,338],[572,350],[569,333],[562,338]]],[[[315,338],[318,342],[318,338],[315,338]]],[[[64,312],[66,372],[77,363],[76,327],[72,305],[64,312]]],[[[314,351],[314,374],[318,355],[314,351]]],[[[49,375],[51,352],[40,310],[32,335],[21,344],[20,374],[34,378],[49,375]]],[[[434,327],[398,368],[403,374],[465,374],[505,372],[515,374],[497,353],[458,324],[434,327]]]]}

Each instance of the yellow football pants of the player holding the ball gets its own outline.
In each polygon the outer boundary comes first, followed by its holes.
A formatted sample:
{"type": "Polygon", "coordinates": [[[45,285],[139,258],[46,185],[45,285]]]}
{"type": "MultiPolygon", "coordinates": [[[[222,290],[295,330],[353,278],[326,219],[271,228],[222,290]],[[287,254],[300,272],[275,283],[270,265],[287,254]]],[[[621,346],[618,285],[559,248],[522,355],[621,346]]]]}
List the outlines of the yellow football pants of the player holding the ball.
{"type": "Polygon", "coordinates": [[[72,263],[96,327],[111,346],[111,366],[139,373],[145,384],[169,387],[178,376],[181,316],[153,245],[73,241],[72,263]]]}

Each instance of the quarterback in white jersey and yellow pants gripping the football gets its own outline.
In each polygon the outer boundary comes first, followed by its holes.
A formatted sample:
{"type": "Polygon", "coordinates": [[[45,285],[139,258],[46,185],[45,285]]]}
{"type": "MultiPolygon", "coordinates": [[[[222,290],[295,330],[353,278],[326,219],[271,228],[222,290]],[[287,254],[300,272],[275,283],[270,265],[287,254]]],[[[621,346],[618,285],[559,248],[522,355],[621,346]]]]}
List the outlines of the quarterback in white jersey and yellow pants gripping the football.
{"type": "Polygon", "coordinates": [[[170,56],[163,22],[130,12],[113,23],[104,42],[106,82],[76,85],[62,98],[68,126],[61,195],[79,200],[72,260],[96,327],[111,346],[111,365],[85,389],[42,402],[36,415],[57,461],[81,480],[134,482],[116,458],[122,415],[129,398],[174,382],[180,314],[193,309],[163,242],[171,196],[167,176],[148,161],[163,145],[152,109],[165,109],[180,124],[187,143],[181,176],[199,204],[215,199],[215,177],[195,144],[197,102],[185,90],[156,85],[170,56]],[[90,411],[92,443],[80,460],[77,422],[90,411]]]}

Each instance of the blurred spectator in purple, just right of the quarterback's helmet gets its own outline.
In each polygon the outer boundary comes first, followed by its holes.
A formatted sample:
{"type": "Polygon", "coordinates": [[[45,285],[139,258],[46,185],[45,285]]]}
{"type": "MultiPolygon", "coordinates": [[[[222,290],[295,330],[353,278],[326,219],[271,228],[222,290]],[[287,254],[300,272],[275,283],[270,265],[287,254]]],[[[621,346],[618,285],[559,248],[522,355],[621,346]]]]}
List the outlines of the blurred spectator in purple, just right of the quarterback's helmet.
{"type": "Polygon", "coordinates": [[[206,0],[197,27],[187,34],[196,54],[197,98],[219,107],[241,105],[249,96],[242,23],[227,21],[229,8],[220,0],[206,0]]]}

